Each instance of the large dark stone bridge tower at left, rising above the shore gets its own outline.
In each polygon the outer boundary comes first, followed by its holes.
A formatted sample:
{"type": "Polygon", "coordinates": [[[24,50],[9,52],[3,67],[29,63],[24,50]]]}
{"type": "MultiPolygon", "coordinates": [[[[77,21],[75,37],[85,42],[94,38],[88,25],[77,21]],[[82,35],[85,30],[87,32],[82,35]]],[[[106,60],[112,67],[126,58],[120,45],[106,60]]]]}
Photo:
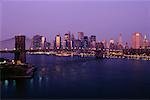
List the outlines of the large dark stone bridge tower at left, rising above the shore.
{"type": "Polygon", "coordinates": [[[20,60],[22,63],[26,62],[26,52],[25,52],[25,36],[19,35],[15,36],[15,60],[20,60]]]}

